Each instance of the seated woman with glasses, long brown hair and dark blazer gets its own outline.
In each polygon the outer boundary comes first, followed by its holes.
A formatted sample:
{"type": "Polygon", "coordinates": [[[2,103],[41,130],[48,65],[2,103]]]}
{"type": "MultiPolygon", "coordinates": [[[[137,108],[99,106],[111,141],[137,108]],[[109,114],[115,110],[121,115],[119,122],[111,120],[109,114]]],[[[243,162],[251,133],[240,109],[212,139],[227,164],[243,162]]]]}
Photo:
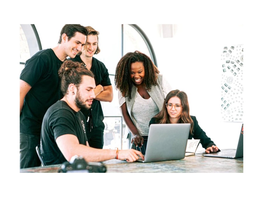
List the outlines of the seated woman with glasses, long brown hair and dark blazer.
{"type": "Polygon", "coordinates": [[[184,91],[172,90],[169,92],[163,103],[162,111],[150,120],[151,124],[177,124],[190,123],[190,133],[188,139],[199,139],[206,153],[220,151],[214,142],[207,137],[200,128],[195,116],[189,114],[189,104],[184,91]]]}

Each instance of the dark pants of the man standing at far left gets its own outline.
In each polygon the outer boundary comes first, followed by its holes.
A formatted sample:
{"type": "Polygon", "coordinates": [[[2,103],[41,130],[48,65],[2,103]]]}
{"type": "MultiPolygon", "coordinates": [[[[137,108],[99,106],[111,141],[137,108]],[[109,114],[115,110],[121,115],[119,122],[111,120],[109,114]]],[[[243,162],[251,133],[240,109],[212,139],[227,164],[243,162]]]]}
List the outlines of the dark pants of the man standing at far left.
{"type": "Polygon", "coordinates": [[[41,161],[36,146],[40,144],[40,136],[20,133],[20,168],[38,167],[41,161]]]}

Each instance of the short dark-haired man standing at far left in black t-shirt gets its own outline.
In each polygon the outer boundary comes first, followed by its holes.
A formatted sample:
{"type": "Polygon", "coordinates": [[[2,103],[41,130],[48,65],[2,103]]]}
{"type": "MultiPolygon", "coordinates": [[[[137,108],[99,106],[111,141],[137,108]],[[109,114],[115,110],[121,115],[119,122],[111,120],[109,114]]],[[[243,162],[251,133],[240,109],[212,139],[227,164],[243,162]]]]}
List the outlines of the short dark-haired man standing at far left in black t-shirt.
{"type": "Polygon", "coordinates": [[[74,58],[86,43],[81,25],[65,25],[58,45],[41,50],[25,63],[20,74],[20,168],[39,166],[36,146],[46,110],[63,97],[58,69],[66,57],[74,58]]]}

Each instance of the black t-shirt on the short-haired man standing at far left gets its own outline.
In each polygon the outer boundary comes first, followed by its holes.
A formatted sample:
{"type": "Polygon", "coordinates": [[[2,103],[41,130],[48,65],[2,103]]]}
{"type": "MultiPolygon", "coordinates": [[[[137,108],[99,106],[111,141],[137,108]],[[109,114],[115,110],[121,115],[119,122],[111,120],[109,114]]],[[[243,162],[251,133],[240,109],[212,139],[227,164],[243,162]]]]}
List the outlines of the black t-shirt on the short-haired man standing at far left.
{"type": "Polygon", "coordinates": [[[20,79],[32,88],[20,114],[20,133],[40,136],[46,110],[63,97],[58,76],[62,63],[52,49],[41,50],[26,61],[20,79]]]}

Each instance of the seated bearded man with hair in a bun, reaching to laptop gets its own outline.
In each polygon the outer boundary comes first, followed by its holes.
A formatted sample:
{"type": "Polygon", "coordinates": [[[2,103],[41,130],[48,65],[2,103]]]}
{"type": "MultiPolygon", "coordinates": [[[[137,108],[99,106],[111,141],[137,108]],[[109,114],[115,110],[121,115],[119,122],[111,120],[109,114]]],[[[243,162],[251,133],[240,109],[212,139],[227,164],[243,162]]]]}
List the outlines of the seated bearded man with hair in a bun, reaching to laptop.
{"type": "Polygon", "coordinates": [[[85,116],[80,109],[90,109],[96,88],[94,75],[79,62],[66,60],[59,69],[64,97],[46,111],[41,128],[40,151],[45,165],[70,161],[83,156],[87,162],[109,159],[136,161],[140,151],[95,149],[89,147],[85,116]]]}

